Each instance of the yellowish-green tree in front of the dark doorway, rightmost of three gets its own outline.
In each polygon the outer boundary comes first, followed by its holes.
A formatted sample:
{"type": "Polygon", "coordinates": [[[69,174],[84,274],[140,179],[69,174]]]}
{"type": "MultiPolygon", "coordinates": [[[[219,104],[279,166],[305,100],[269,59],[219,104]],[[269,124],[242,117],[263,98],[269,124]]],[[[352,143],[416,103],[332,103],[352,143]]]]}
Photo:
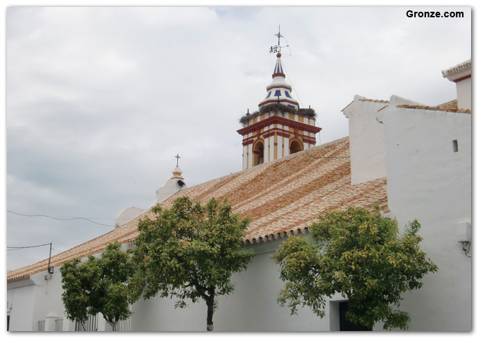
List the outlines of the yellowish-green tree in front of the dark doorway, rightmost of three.
{"type": "Polygon", "coordinates": [[[278,303],[287,304],[291,314],[302,305],[324,317],[325,298],[339,292],[348,298],[349,321],[407,329],[409,314],[397,310],[400,294],[421,288],[421,278],[438,270],[419,247],[420,227],[416,220],[407,224],[399,238],[398,222],[378,211],[348,208],[321,215],[310,240],[292,236],[272,256],[286,282],[278,303]]]}

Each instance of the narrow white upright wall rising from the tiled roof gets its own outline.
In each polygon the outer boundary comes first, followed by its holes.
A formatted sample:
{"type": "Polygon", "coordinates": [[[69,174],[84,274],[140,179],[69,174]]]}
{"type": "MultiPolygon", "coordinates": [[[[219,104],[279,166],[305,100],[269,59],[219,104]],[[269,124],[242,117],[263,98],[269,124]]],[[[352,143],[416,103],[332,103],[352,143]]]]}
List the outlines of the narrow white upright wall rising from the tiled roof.
{"type": "Polygon", "coordinates": [[[384,127],[377,121],[377,111],[385,105],[355,95],[353,103],[344,108],[348,118],[352,184],[387,176],[384,127]]]}

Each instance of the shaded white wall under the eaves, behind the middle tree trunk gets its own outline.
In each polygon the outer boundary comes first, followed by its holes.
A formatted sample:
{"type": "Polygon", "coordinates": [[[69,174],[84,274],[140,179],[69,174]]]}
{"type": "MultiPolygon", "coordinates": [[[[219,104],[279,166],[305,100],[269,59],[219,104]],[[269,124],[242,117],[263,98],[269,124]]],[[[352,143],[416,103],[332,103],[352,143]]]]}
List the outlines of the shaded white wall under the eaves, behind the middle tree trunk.
{"type": "MultiPolygon", "coordinates": [[[[278,266],[270,256],[281,240],[256,245],[256,256],[245,272],[233,276],[236,290],[229,296],[220,296],[218,310],[213,317],[215,331],[327,331],[328,319],[320,319],[312,311],[299,310],[290,316],[287,308],[276,302],[283,287],[278,266]]],[[[140,300],[133,305],[134,331],[205,331],[206,304],[192,304],[186,309],[175,309],[175,301],[155,297],[140,300]]],[[[326,309],[328,311],[328,309],[326,309]]]]}

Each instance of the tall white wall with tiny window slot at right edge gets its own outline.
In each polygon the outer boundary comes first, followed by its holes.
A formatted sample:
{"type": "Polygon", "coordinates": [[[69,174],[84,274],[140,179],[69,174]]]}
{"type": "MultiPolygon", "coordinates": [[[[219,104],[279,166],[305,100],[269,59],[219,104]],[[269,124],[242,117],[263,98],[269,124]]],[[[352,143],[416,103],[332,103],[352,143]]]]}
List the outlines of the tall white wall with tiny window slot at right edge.
{"type": "Polygon", "coordinates": [[[379,114],[389,208],[402,228],[421,222],[421,247],[439,267],[423,278],[423,289],[405,294],[400,308],[411,313],[410,330],[470,330],[471,258],[457,243],[457,231],[471,222],[471,116],[396,108],[403,103],[396,96],[390,101],[379,114]]]}

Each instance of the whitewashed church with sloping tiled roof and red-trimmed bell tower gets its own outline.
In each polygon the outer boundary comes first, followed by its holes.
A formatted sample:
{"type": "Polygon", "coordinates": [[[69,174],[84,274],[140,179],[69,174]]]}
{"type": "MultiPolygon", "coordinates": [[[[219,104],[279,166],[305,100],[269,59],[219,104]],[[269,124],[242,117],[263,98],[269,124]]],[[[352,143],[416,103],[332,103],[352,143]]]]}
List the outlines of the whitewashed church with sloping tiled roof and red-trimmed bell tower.
{"type": "MultiPolygon", "coordinates": [[[[245,271],[233,275],[234,292],[218,298],[214,329],[343,330],[347,299],[340,294],[327,300],[324,318],[309,308],[291,316],[289,309],[278,305],[283,282],[270,256],[289,236],[308,236],[321,214],[348,206],[369,210],[378,206],[382,215],[396,217],[400,231],[408,222],[421,222],[421,249],[439,267],[436,274],[423,278],[422,289],[402,295],[400,310],[411,316],[409,330],[470,331],[471,60],[443,71],[445,78],[457,83],[457,100],[428,106],[395,95],[389,100],[357,95],[342,110],[349,136],[316,145],[321,128],[315,112],[299,107],[285,82],[281,53],[276,56],[272,82],[258,111],[240,120],[242,170],[188,187],[188,169],[183,174],[177,162],[152,203],[168,208],[177,197],[202,204],[212,197],[227,197],[233,212],[250,217],[242,244],[254,249],[255,256],[245,271]]],[[[61,265],[98,255],[114,241],[121,242],[122,249],[134,247],[143,217],[154,217],[150,208],[126,208],[116,217],[113,231],[51,260],[9,272],[9,330],[82,330],[64,314],[61,265]]],[[[206,305],[201,301],[179,309],[175,299],[155,296],[132,304],[132,312],[120,330],[206,330],[206,305]]],[[[101,315],[91,317],[86,327],[111,330],[101,315]]],[[[383,330],[382,325],[377,323],[373,330],[383,330]]]]}

